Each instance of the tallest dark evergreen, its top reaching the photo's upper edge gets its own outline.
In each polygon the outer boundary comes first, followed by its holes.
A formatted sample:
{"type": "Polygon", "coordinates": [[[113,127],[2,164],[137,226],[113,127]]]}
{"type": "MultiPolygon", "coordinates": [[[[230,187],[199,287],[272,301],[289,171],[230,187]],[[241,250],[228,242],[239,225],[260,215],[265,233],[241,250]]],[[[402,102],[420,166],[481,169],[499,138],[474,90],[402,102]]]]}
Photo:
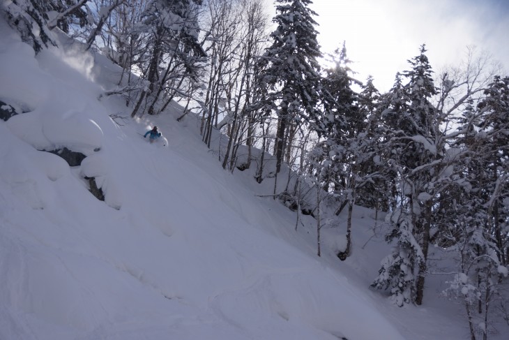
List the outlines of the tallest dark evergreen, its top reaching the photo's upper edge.
{"type": "Polygon", "coordinates": [[[278,117],[276,133],[276,172],[280,172],[288,129],[303,121],[316,124],[320,119],[320,74],[317,58],[316,15],[310,0],[276,0],[278,27],[273,43],[260,59],[259,87],[266,87],[264,107],[278,117]]]}

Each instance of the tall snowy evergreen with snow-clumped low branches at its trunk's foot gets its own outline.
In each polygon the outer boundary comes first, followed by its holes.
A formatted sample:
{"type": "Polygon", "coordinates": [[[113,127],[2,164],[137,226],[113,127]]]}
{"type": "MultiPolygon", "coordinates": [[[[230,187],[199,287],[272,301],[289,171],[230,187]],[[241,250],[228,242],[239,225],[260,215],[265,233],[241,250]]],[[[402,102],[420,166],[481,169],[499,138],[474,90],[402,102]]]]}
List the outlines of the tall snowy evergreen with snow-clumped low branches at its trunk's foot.
{"type": "Polygon", "coordinates": [[[402,85],[397,77],[382,112],[388,132],[386,147],[391,150],[388,163],[396,174],[400,207],[393,212],[390,219],[393,230],[388,235],[388,241],[396,241],[396,249],[372,286],[387,286],[389,277],[393,280],[389,284],[393,295],[404,297],[398,300],[399,304],[409,301],[421,304],[423,300],[434,200],[440,190],[434,183],[441,181],[439,164],[445,147],[439,114],[430,101],[437,91],[425,52],[423,45],[420,54],[409,60],[411,69],[402,73],[408,83],[402,85]],[[394,272],[397,266],[388,264],[402,258],[409,259],[411,265],[394,272]],[[412,285],[402,284],[398,277],[412,285]]]}

